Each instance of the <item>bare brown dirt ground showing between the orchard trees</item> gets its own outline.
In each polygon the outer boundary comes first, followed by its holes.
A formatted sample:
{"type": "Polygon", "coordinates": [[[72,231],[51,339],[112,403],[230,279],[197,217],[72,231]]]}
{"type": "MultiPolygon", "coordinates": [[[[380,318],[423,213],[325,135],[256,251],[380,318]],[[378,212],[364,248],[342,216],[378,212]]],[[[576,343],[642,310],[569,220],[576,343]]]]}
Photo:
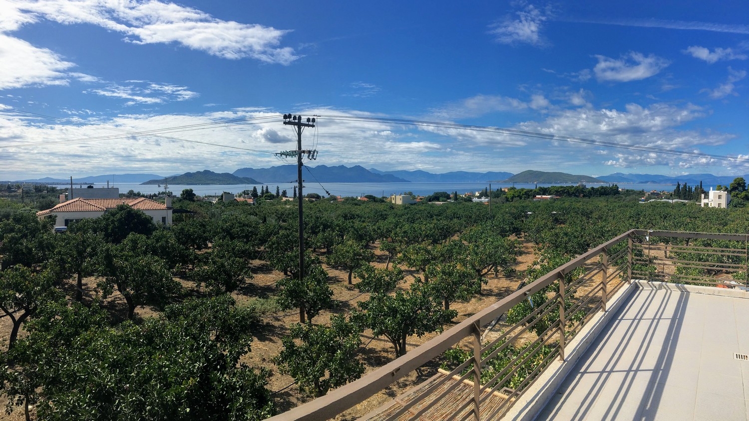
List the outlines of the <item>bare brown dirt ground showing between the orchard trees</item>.
{"type": "MultiPolygon", "coordinates": [[[[384,267],[386,265],[386,255],[379,251],[379,245],[375,243],[372,245],[372,251],[375,252],[377,260],[373,263],[375,267],[384,267]]],[[[450,305],[452,310],[458,312],[458,316],[454,319],[453,324],[457,324],[474,313],[487,307],[489,304],[494,303],[500,298],[514,292],[521,281],[524,279],[524,270],[533,262],[535,258],[533,254],[533,245],[528,242],[521,243],[521,251],[518,256],[518,263],[515,266],[516,274],[513,277],[503,277],[500,273],[499,277],[494,277],[494,273],[491,272],[485,275],[487,283],[482,286],[482,293],[465,302],[455,302],[450,305]]],[[[278,271],[267,267],[265,262],[255,261],[253,262],[254,267],[252,268],[253,278],[239,291],[234,293],[234,298],[237,300],[237,304],[243,304],[246,301],[250,301],[255,298],[270,298],[276,293],[276,282],[282,279],[282,274],[278,271]]],[[[354,285],[348,285],[348,273],[340,271],[334,268],[325,266],[325,269],[330,275],[330,288],[333,289],[333,298],[336,300],[336,308],[331,311],[323,311],[320,315],[314,319],[315,323],[327,323],[330,320],[331,314],[348,312],[353,308],[357,307],[357,301],[366,301],[369,294],[361,293],[356,287],[357,279],[354,277],[354,285]]],[[[419,276],[420,274],[416,271],[411,271],[404,268],[406,275],[406,282],[401,285],[401,288],[407,288],[410,282],[413,281],[413,276],[419,276]]],[[[88,299],[93,299],[97,295],[96,290],[97,279],[86,278],[84,289],[88,299]]],[[[184,286],[189,288],[189,283],[184,282],[184,286]]],[[[65,286],[65,289],[69,289],[67,294],[73,295],[73,284],[65,286]]],[[[124,320],[126,314],[126,306],[121,295],[115,292],[112,297],[103,300],[105,307],[114,316],[115,319],[124,320]]],[[[138,307],[136,309],[136,319],[146,318],[151,316],[157,316],[159,312],[151,307],[138,307]]],[[[289,327],[295,322],[299,321],[298,311],[285,310],[278,311],[275,313],[264,314],[261,316],[261,323],[253,332],[255,337],[252,342],[252,351],[243,357],[243,362],[249,363],[250,366],[264,366],[269,368],[273,375],[270,377],[268,388],[274,391],[273,399],[276,404],[276,408],[279,412],[286,411],[290,408],[294,408],[303,402],[311,400],[311,398],[302,396],[299,393],[296,385],[294,385],[294,379],[288,375],[282,375],[279,373],[277,367],[272,363],[273,357],[279,354],[282,350],[281,338],[288,334],[289,327]]],[[[7,340],[10,335],[11,328],[10,319],[7,316],[0,317],[0,348],[7,348],[7,340]]],[[[451,325],[446,325],[445,330],[449,329],[451,325]]],[[[432,337],[435,337],[437,333],[428,334],[423,337],[410,337],[407,345],[408,349],[413,349],[418,345],[428,341],[432,337]]],[[[19,333],[19,337],[23,336],[23,331],[19,333]]],[[[394,358],[393,345],[384,337],[373,338],[370,331],[365,331],[362,334],[363,345],[360,357],[366,364],[366,372],[372,372],[379,366],[383,366],[389,363],[394,358]]],[[[431,367],[432,369],[436,368],[431,367]]],[[[389,399],[397,396],[406,390],[408,387],[412,387],[413,384],[428,378],[433,374],[433,370],[416,370],[415,372],[402,378],[400,381],[392,384],[383,392],[378,393],[367,401],[347,411],[339,420],[354,420],[363,414],[378,408],[389,399]]],[[[345,386],[344,386],[345,387],[345,386]]],[[[6,399],[0,396],[0,406],[3,407],[6,404],[6,399]]],[[[4,411],[0,411],[0,421],[20,421],[24,420],[24,414],[22,408],[16,408],[12,414],[5,414],[4,411]]]]}

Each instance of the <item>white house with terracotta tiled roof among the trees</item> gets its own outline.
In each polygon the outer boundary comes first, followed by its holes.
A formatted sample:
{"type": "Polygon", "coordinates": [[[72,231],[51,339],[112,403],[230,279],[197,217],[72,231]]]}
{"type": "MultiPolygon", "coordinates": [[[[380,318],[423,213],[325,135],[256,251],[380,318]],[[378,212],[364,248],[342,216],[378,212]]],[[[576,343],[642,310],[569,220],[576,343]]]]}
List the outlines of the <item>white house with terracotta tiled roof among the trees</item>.
{"type": "Polygon", "coordinates": [[[57,218],[55,227],[67,227],[73,221],[79,221],[84,218],[97,218],[104,215],[104,212],[109,209],[115,209],[119,205],[127,205],[133,209],[145,212],[146,215],[154,218],[154,224],[172,225],[172,197],[166,198],[166,204],[145,197],[118,197],[117,199],[84,199],[83,197],[76,197],[73,200],[58,203],[52,209],[37,212],[37,217],[45,218],[49,215],[55,215],[57,218]]]}

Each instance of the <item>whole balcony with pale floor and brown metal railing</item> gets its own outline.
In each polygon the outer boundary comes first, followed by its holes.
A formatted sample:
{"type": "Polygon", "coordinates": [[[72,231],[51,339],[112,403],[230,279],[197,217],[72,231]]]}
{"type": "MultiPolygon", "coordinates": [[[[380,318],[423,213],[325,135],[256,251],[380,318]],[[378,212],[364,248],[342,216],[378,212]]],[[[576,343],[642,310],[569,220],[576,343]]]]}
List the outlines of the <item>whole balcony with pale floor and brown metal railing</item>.
{"type": "Polygon", "coordinates": [[[360,419],[747,420],[748,240],[631,230],[271,420],[334,418],[414,370],[428,375],[360,419]],[[450,348],[467,359],[437,369],[450,348]]]}

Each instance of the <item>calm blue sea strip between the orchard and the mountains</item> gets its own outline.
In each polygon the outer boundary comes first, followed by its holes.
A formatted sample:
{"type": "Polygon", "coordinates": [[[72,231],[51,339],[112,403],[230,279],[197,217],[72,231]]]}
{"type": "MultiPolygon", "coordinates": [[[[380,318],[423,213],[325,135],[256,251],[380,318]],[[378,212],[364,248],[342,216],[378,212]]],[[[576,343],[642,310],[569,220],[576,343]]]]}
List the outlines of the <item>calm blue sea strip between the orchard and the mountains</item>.
{"type": "MultiPolygon", "coordinates": [[[[172,191],[173,194],[178,195],[183,191],[185,188],[192,188],[192,191],[195,191],[195,194],[198,194],[198,196],[206,196],[206,195],[213,195],[213,194],[221,194],[223,191],[227,191],[229,193],[239,193],[240,191],[244,190],[252,190],[252,187],[257,187],[258,190],[260,190],[261,186],[266,186],[270,188],[270,192],[275,194],[276,193],[276,185],[279,186],[279,189],[286,190],[288,195],[291,196],[294,191],[294,186],[297,185],[296,183],[270,183],[265,185],[252,185],[252,184],[231,184],[231,185],[169,185],[169,191],[172,191]]],[[[513,183],[501,183],[501,182],[493,182],[491,183],[491,188],[496,190],[497,188],[501,187],[509,187],[512,186],[513,183]]],[[[536,184],[533,183],[515,183],[515,187],[517,188],[535,188],[536,184]]],[[[549,185],[565,185],[565,184],[539,184],[540,186],[549,186],[549,185]]],[[[670,184],[618,184],[619,188],[631,188],[634,190],[645,190],[645,191],[651,191],[651,190],[665,190],[665,191],[673,191],[673,189],[676,187],[675,185],[670,184]]],[[[452,193],[453,191],[458,191],[459,194],[464,194],[467,191],[481,191],[484,188],[488,188],[488,183],[486,182],[383,182],[383,183],[373,183],[373,182],[324,182],[324,183],[318,183],[318,182],[304,182],[304,194],[307,193],[317,193],[321,194],[323,196],[327,196],[328,194],[333,194],[336,196],[363,196],[365,194],[373,194],[377,197],[380,196],[389,196],[390,194],[401,194],[405,193],[407,191],[412,192],[413,194],[432,194],[435,191],[447,191],[449,193],[452,193]],[[330,192],[330,193],[328,193],[330,192]]],[[[597,187],[598,185],[589,184],[588,187],[597,187]]],[[[75,187],[78,187],[77,185],[75,187]]],[[[85,187],[85,186],[84,186],[85,187]]],[[[103,187],[103,185],[97,184],[94,185],[95,188],[97,187],[103,187]]],[[[120,193],[126,193],[127,191],[133,190],[133,191],[140,191],[141,193],[157,193],[159,191],[164,190],[164,186],[161,185],[159,187],[158,185],[141,185],[139,183],[133,183],[133,182],[121,182],[117,183],[115,185],[112,185],[112,187],[117,187],[120,189],[120,193]]],[[[708,188],[706,186],[706,188],[708,188]]]]}

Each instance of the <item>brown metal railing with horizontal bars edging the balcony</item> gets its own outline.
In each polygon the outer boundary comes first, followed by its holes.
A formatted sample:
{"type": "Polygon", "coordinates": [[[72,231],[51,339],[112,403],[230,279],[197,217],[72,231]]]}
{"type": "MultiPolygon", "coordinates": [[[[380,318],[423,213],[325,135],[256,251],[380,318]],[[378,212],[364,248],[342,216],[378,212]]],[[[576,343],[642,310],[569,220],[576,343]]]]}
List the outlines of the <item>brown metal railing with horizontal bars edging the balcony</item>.
{"type": "Polygon", "coordinates": [[[363,378],[270,420],[333,418],[464,342],[470,342],[471,357],[455,364],[441,378],[422,384],[407,402],[396,399],[399,408],[389,411],[387,417],[371,419],[428,417],[436,405],[419,402],[440,402],[448,396],[455,399],[456,390],[466,384],[472,386],[473,393],[464,393],[455,402],[448,419],[497,419],[554,357],[565,359],[565,345],[595,313],[606,310],[607,301],[622,286],[633,279],[739,286],[728,278],[730,275],[739,279],[743,276],[740,286],[746,286],[748,245],[746,235],[630,230],[560,265],[363,378]],[[516,306],[530,309],[518,312],[516,306]],[[518,322],[503,325],[496,338],[482,343],[482,328],[508,312],[515,312],[515,316],[521,313],[522,318],[517,316],[518,322]],[[467,338],[470,340],[464,340],[467,338]]]}

